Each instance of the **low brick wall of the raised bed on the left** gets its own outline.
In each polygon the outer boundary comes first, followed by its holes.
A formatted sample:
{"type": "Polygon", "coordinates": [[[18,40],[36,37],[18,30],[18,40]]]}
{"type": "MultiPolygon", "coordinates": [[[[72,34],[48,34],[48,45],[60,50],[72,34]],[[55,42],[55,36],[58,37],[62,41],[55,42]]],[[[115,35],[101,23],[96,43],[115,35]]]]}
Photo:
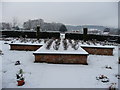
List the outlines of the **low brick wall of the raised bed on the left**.
{"type": "Polygon", "coordinates": [[[10,44],[10,50],[23,50],[23,51],[36,51],[42,45],[17,45],[17,44],[10,44]]]}

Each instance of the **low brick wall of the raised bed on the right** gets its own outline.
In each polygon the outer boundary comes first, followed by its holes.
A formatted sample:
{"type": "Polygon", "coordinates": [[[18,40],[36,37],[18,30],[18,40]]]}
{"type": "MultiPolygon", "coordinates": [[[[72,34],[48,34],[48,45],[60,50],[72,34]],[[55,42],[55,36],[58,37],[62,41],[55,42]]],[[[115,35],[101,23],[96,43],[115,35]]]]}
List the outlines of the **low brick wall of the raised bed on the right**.
{"type": "Polygon", "coordinates": [[[89,54],[93,55],[113,55],[114,48],[82,47],[89,54]]]}

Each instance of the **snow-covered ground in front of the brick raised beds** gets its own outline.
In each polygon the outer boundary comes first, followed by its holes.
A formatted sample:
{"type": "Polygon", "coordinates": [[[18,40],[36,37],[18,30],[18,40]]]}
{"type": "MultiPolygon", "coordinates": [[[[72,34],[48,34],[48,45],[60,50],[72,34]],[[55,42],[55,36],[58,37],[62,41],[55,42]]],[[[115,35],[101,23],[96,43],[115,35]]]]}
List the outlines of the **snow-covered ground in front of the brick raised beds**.
{"type": "MultiPolygon", "coordinates": [[[[5,41],[0,41],[4,55],[2,58],[2,88],[108,88],[117,83],[118,47],[115,46],[114,56],[89,55],[88,65],[67,65],[34,63],[34,51],[12,51],[5,41]],[[15,66],[16,61],[21,65],[15,66]],[[105,66],[112,69],[106,69],[105,66]],[[25,85],[17,86],[16,74],[23,69],[25,85]],[[105,75],[110,82],[96,80],[97,76],[105,75]]],[[[0,61],[1,62],[1,61],[0,61]]],[[[1,80],[1,78],[0,78],[1,80]]]]}

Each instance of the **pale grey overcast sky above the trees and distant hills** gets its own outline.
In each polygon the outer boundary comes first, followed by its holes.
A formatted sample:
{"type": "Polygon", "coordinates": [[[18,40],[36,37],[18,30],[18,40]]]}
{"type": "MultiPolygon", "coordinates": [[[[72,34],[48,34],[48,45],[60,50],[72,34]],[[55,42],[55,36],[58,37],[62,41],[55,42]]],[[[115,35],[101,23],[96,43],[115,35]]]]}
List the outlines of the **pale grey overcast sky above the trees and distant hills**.
{"type": "Polygon", "coordinates": [[[118,27],[117,2],[4,2],[3,21],[19,22],[44,19],[70,25],[103,25],[118,27]]]}

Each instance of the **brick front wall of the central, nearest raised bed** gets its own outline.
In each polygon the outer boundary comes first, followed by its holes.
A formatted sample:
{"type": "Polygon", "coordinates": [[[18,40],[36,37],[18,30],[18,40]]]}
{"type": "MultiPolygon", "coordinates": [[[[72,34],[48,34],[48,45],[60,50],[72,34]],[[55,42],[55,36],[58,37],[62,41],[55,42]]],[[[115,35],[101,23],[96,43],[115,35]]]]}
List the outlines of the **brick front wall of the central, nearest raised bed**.
{"type": "Polygon", "coordinates": [[[57,64],[84,64],[87,65],[88,55],[74,54],[34,54],[35,62],[57,63],[57,64]]]}

